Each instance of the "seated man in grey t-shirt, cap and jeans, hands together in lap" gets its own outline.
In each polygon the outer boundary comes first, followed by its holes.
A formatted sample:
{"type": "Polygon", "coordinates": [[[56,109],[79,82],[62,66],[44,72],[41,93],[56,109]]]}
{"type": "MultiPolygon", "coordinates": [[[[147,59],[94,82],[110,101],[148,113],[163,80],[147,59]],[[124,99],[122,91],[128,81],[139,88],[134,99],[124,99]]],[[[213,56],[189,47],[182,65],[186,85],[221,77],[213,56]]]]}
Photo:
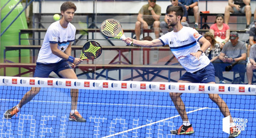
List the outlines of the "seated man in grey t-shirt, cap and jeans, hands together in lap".
{"type": "Polygon", "coordinates": [[[223,71],[238,71],[239,77],[244,82],[246,72],[246,46],[245,42],[238,40],[238,33],[230,33],[230,41],[223,47],[219,59],[213,62],[220,83],[226,83],[223,78],[223,71]]]}

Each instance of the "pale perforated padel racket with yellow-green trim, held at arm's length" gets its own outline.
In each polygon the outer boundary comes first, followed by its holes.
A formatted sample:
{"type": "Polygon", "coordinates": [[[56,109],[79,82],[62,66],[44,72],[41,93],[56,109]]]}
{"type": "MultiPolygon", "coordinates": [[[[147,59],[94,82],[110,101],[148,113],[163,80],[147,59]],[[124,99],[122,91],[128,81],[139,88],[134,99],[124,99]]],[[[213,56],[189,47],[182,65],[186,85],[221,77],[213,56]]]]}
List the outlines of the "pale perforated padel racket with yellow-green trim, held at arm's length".
{"type": "MultiPolygon", "coordinates": [[[[106,38],[125,39],[122,25],[115,19],[107,19],[101,23],[101,34],[106,38]]],[[[133,46],[133,43],[130,43],[133,46]]]]}

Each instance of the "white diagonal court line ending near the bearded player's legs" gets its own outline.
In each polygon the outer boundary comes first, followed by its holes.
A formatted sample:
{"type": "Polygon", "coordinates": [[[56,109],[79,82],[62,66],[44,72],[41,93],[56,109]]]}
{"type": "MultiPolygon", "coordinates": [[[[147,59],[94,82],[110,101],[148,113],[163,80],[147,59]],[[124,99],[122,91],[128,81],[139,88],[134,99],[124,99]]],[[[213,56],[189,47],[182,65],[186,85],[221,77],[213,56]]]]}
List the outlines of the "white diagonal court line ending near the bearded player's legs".
{"type": "MultiPolygon", "coordinates": [[[[187,114],[193,113],[193,112],[195,112],[195,111],[207,109],[207,108],[208,108],[208,107],[204,107],[204,108],[196,109],[196,110],[193,110],[193,111],[188,111],[187,114]]],[[[138,127],[135,127],[135,128],[131,128],[130,130],[126,130],[126,131],[123,131],[123,132],[118,132],[118,133],[116,133],[116,134],[104,136],[104,137],[101,137],[101,138],[107,138],[107,137],[110,137],[110,136],[115,136],[115,135],[123,134],[123,133],[129,132],[129,131],[137,130],[137,129],[142,128],[142,127],[145,127],[145,126],[150,126],[150,125],[153,125],[153,124],[156,124],[156,123],[159,123],[159,122],[163,122],[163,121],[165,121],[165,120],[169,120],[169,119],[172,119],[172,118],[175,118],[175,117],[178,117],[178,116],[180,116],[180,115],[176,115],[176,116],[172,116],[172,117],[165,118],[165,119],[162,119],[162,120],[158,120],[157,122],[153,122],[153,123],[150,123],[150,124],[147,124],[147,125],[138,126],[138,127]]]]}

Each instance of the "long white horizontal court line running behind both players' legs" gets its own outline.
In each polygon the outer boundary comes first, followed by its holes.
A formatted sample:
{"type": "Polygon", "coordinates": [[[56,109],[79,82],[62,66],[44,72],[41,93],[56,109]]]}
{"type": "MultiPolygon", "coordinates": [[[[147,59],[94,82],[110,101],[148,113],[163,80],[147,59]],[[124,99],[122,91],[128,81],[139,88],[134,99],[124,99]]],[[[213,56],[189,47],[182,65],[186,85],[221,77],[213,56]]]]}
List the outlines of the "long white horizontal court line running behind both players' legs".
{"type": "MultiPolygon", "coordinates": [[[[14,100],[14,99],[0,99],[0,101],[20,101],[20,100],[14,100]]],[[[51,102],[51,103],[71,103],[66,101],[43,101],[43,100],[31,100],[30,102],[51,102]]],[[[150,106],[150,105],[129,105],[129,104],[116,104],[116,103],[92,103],[92,102],[78,102],[79,104],[84,105],[110,105],[110,106],[139,106],[139,107],[165,107],[165,108],[174,108],[174,106],[150,106]]],[[[199,109],[202,107],[186,107],[186,109],[199,109]]],[[[220,110],[219,108],[209,108],[208,109],[215,109],[220,110]]],[[[229,109],[229,110],[236,110],[236,111],[256,111],[256,110],[247,110],[247,109],[229,109]]]]}

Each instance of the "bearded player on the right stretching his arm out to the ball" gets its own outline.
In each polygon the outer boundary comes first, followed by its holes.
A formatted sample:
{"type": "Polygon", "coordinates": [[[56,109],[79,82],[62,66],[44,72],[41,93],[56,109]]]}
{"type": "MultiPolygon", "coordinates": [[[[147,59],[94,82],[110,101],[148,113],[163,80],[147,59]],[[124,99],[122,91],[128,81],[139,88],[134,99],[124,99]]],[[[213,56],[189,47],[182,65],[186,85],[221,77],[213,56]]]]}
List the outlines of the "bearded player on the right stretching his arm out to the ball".
{"type": "MultiPolygon", "coordinates": [[[[210,42],[200,35],[195,29],[183,27],[181,19],[183,9],[180,6],[172,6],[167,10],[168,25],[173,28],[173,31],[166,33],[159,39],[152,41],[132,40],[132,38],[123,39],[126,44],[133,41],[134,45],[141,47],[159,47],[169,45],[172,53],[178,59],[179,63],[186,69],[186,73],[181,76],[178,83],[215,83],[214,67],[209,58],[205,56],[204,51],[210,47],[210,42]],[[199,43],[202,44],[200,47],[199,43]]],[[[181,99],[182,93],[170,92],[170,97],[177,109],[180,117],[183,120],[183,125],[178,130],[171,131],[172,134],[193,134],[194,130],[188,120],[185,105],[181,99]]],[[[209,94],[209,98],[217,103],[223,116],[230,116],[230,112],[226,102],[223,101],[219,94],[209,94]]],[[[230,123],[233,124],[233,119],[230,116],[230,123]]],[[[234,132],[235,126],[230,127],[229,137],[236,137],[241,132],[234,132]]]]}

